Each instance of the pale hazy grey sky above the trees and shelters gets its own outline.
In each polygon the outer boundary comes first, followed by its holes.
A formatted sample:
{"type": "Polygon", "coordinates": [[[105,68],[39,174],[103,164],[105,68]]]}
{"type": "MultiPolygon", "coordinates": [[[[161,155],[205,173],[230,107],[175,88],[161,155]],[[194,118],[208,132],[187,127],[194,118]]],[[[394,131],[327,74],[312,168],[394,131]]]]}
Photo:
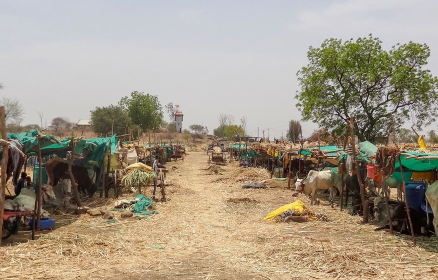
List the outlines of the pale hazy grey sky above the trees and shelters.
{"type": "MultiPolygon", "coordinates": [[[[368,33],[386,48],[425,42],[438,75],[437,10],[431,0],[0,0],[0,94],[21,100],[25,124],[37,111],[47,124],[89,118],[138,90],[179,104],[184,128],[212,132],[223,112],[278,137],[300,118],[296,71],[309,45],[368,33]]],[[[304,136],[313,128],[304,123],[304,136]]]]}

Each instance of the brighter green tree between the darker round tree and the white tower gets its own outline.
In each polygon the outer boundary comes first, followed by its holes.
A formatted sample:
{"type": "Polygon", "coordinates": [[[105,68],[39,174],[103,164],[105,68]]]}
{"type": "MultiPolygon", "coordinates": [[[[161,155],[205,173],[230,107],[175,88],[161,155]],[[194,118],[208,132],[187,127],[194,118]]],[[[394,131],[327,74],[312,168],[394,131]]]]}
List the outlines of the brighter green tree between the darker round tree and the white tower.
{"type": "Polygon", "coordinates": [[[158,128],[163,117],[162,107],[158,96],[149,93],[132,91],[130,96],[120,99],[123,107],[133,124],[138,124],[142,131],[158,128]]]}

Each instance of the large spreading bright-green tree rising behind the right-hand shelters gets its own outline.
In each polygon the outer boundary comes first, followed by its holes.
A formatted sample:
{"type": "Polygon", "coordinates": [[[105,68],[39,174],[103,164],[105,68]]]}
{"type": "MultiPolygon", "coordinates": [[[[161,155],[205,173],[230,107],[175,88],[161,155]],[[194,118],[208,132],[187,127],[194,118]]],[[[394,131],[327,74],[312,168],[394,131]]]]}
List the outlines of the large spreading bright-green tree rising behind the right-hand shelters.
{"type": "Polygon", "coordinates": [[[437,115],[438,78],[425,68],[430,49],[409,42],[389,50],[372,37],[326,39],[309,47],[309,63],[298,72],[301,89],[295,95],[302,120],[311,120],[334,135],[342,135],[354,115],[360,140],[374,140],[412,118],[417,127],[437,115]]]}

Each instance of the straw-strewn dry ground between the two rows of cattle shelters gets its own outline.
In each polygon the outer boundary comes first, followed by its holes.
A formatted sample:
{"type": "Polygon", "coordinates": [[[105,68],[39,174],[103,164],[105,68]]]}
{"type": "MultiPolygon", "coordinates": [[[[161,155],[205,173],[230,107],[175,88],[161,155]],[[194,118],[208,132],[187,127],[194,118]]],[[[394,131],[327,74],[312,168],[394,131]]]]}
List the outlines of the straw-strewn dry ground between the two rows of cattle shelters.
{"type": "Polygon", "coordinates": [[[309,200],[287,189],[242,189],[248,178],[230,177],[238,176],[236,164],[214,174],[206,160],[190,152],[183,162],[167,163],[170,200],[157,203],[159,213],[148,219],[122,220],[116,212],[119,220],[107,224],[61,215],[53,232],[3,246],[0,278],[436,279],[434,237],[413,246],[408,236],[373,231],[374,224],[327,205],[310,209],[328,221],[264,221],[283,204],[309,200]]]}

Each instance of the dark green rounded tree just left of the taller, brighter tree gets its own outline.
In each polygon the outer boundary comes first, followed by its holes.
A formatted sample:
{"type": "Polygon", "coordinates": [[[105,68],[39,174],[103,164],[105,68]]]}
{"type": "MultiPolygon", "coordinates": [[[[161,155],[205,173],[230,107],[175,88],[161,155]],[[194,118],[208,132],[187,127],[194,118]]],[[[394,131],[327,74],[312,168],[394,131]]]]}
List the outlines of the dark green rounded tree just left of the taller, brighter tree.
{"type": "Polygon", "coordinates": [[[122,135],[126,126],[130,124],[129,116],[121,106],[111,104],[106,107],[96,107],[90,113],[90,122],[96,134],[107,135],[111,133],[112,121],[114,121],[114,133],[122,135]]]}

